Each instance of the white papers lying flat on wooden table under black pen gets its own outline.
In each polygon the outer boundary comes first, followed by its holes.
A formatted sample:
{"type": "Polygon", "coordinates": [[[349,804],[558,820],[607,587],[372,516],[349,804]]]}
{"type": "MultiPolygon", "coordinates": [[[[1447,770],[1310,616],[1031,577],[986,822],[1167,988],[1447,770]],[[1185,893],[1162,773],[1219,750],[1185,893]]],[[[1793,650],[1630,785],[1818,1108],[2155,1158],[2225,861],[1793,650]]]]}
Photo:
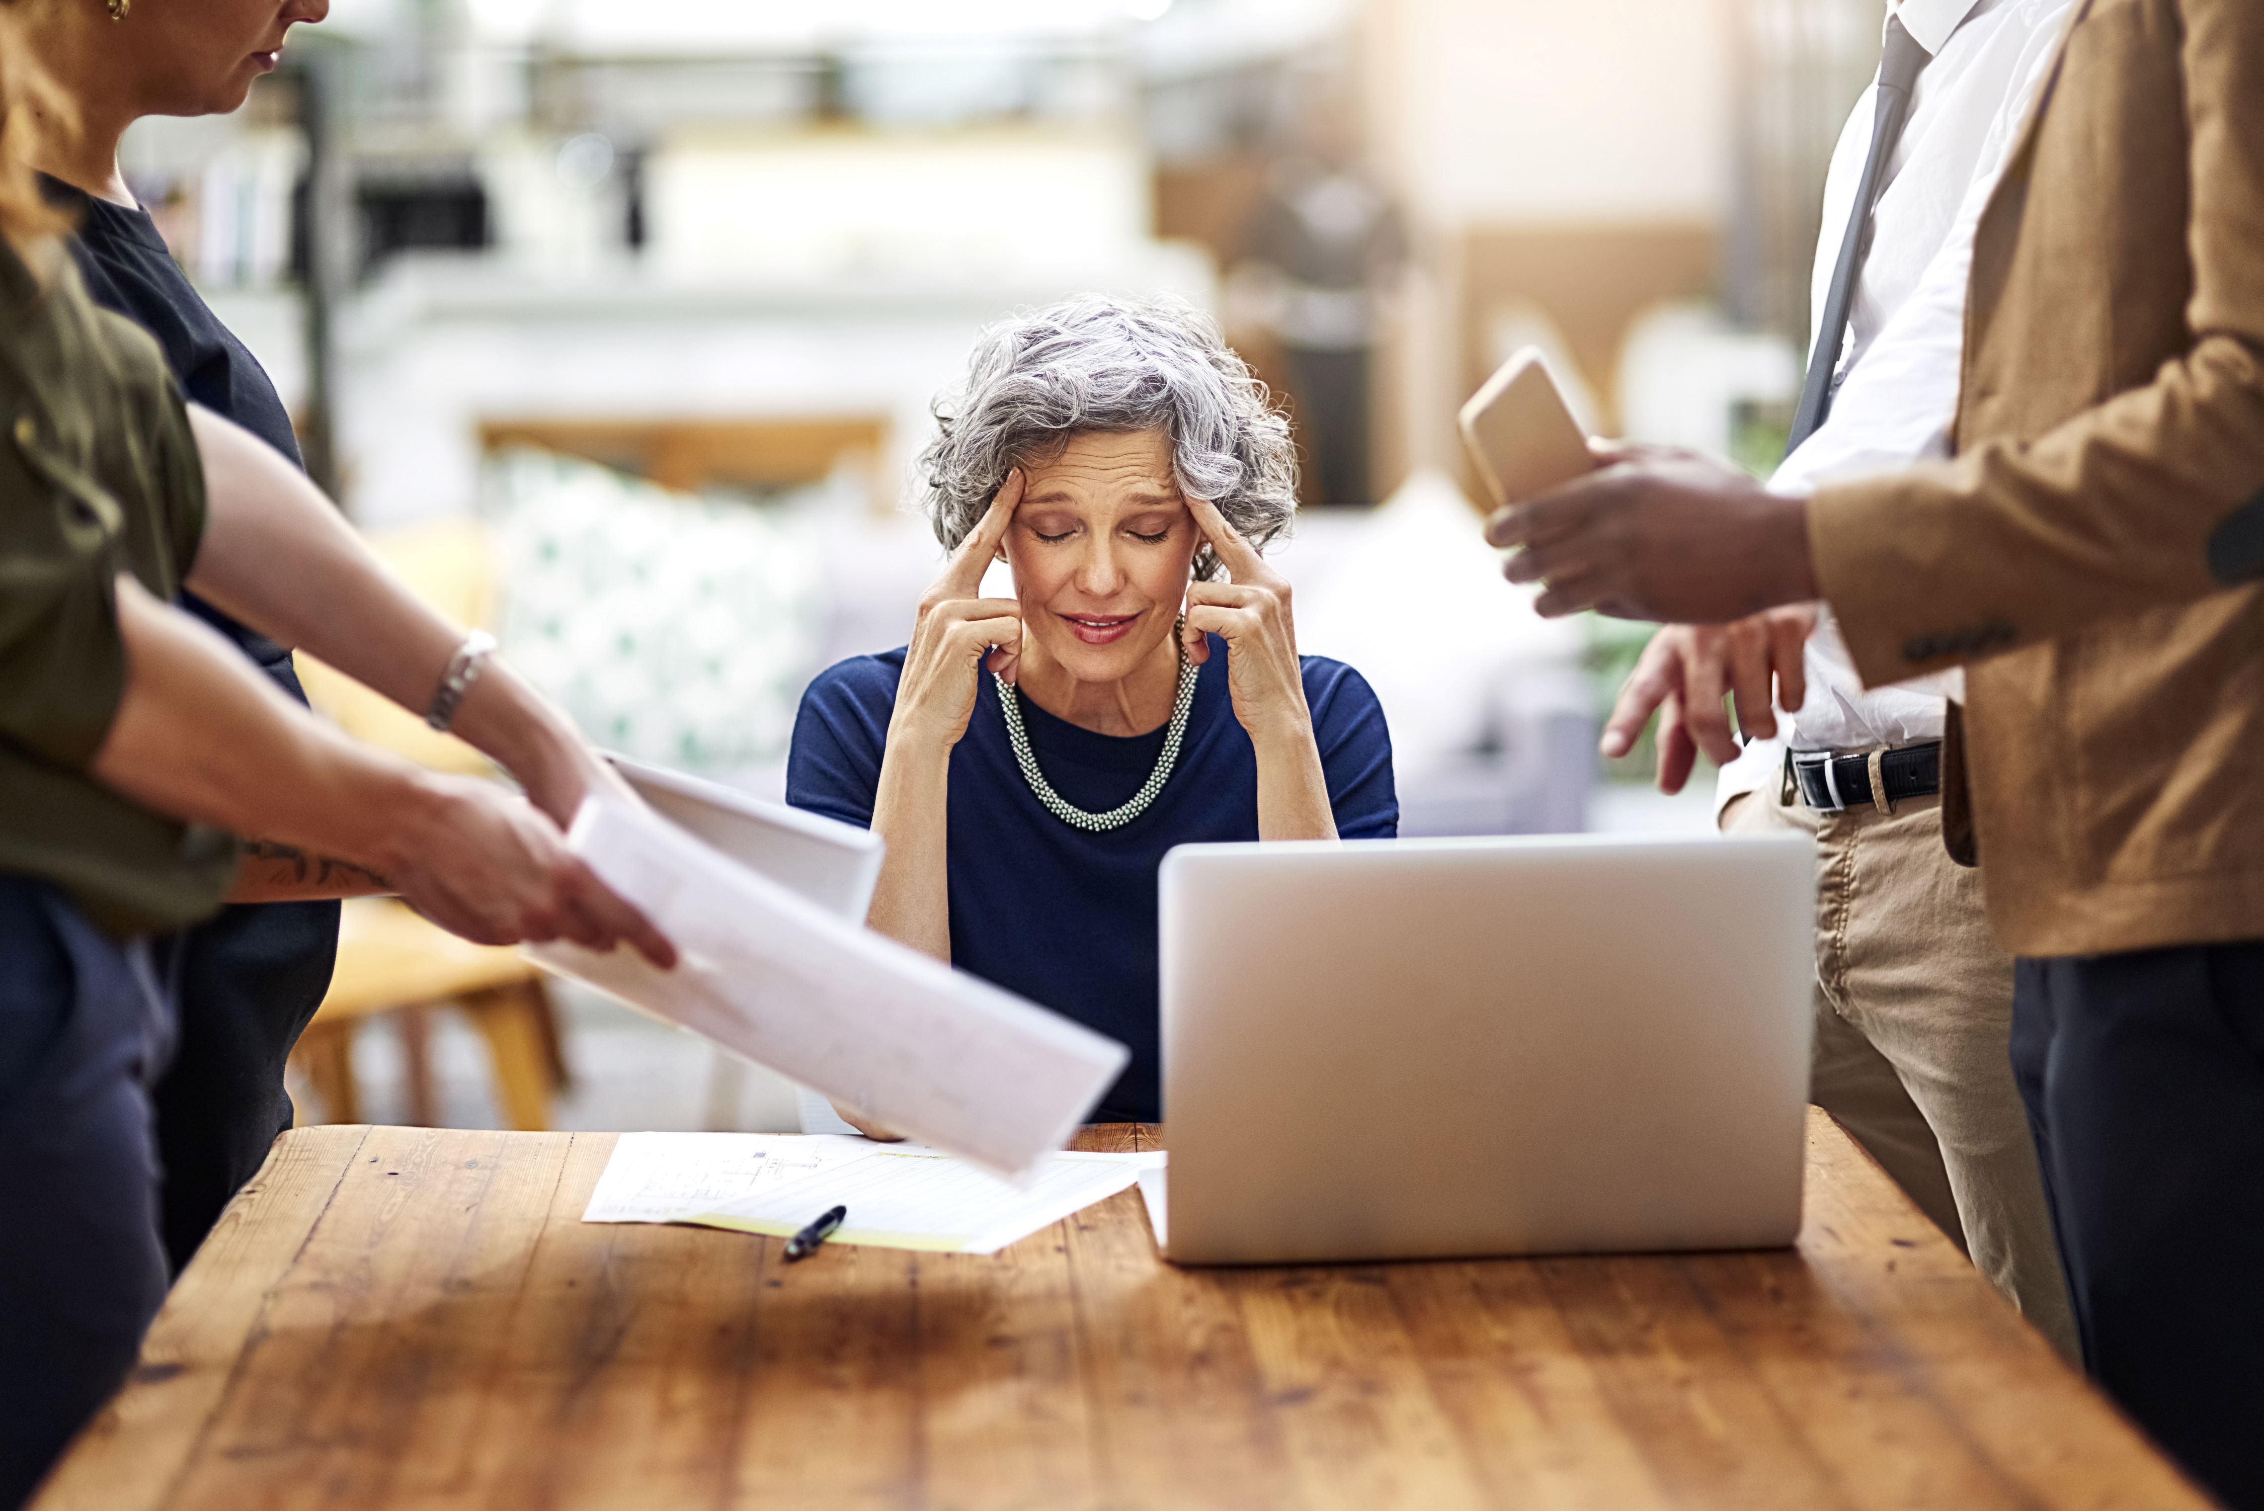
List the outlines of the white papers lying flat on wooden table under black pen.
{"type": "Polygon", "coordinates": [[[996,1253],[1132,1185],[1159,1154],[1053,1154],[1010,1183],[935,1149],[829,1133],[623,1133],[582,1221],[686,1221],[831,1244],[996,1253]]]}

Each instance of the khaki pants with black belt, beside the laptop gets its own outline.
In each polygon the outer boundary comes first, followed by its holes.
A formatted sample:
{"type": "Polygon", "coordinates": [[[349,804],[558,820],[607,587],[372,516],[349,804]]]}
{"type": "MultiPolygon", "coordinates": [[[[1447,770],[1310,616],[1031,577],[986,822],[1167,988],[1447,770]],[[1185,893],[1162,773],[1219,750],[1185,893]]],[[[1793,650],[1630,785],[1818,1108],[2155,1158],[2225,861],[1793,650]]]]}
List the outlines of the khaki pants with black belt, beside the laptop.
{"type": "Polygon", "coordinates": [[[1943,851],[1940,798],[1820,814],[1777,785],[1730,832],[1816,839],[1816,1056],[1832,1113],[2063,1357],[2076,1323],[2013,1083],[2013,959],[1981,873],[1943,851]]]}

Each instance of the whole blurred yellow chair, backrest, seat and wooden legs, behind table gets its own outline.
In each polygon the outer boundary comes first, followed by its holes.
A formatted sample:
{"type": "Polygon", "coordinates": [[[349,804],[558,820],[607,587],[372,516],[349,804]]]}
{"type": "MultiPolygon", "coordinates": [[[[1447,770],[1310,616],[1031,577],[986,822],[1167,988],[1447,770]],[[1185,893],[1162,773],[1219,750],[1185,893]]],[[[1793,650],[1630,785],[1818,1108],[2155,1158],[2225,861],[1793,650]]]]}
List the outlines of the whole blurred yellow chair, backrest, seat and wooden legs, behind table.
{"type": "MultiPolygon", "coordinates": [[[[371,545],[435,608],[462,624],[487,624],[494,568],[487,538],[471,520],[428,525],[371,545]]],[[[484,756],[369,688],[299,656],[308,699],[340,728],[437,771],[494,776],[484,756]]],[[[392,898],[346,903],[331,993],[299,1038],[292,1061],[312,1081],[331,1122],[360,1122],[353,1083],[353,1034],[369,1018],[392,1018],[408,1059],[408,1115],[437,1120],[426,1052],[430,1009],[453,1004],[487,1041],[496,1102],[514,1129],[550,1126],[550,1097],[566,1083],[566,1056],[543,973],[516,950],[464,943],[392,898]]]]}

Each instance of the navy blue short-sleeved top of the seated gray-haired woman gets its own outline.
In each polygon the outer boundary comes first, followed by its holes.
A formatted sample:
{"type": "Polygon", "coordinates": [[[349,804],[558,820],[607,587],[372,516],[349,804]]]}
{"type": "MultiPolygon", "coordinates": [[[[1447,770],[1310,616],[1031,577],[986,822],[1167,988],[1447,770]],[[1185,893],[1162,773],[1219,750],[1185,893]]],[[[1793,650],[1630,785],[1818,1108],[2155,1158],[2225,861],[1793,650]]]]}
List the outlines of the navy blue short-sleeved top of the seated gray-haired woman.
{"type": "MultiPolygon", "coordinates": [[[[903,651],[856,656],[811,683],[795,719],[786,801],[872,828],[881,751],[903,651]]],[[[1399,832],[1392,737],[1358,672],[1304,658],[1320,767],[1343,839],[1399,832]]],[[[1021,699],[1030,749],[1053,789],[1087,812],[1125,803],[1155,771],[1164,731],[1096,735],[1021,699]]],[[[1227,697],[1227,645],[1195,681],[1180,765],[1132,823],[1087,835],[1046,812],[1014,765],[989,676],[967,737],[951,751],[951,964],[1132,1047],[1098,1120],[1164,1111],[1157,1047],[1157,866],[1175,844],[1259,837],[1259,767],[1227,697]]]]}

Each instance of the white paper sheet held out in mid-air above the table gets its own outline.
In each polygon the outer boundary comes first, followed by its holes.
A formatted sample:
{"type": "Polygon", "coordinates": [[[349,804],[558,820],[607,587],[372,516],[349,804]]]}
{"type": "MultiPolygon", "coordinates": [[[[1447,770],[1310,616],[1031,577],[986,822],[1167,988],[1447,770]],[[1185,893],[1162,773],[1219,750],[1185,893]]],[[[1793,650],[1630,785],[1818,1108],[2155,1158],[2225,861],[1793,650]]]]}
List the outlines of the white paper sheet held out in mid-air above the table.
{"type": "Polygon", "coordinates": [[[629,803],[586,801],[568,844],[681,959],[657,970],[629,948],[548,943],[528,948],[537,964],[989,1169],[1032,1172],[1130,1059],[629,803]]]}

